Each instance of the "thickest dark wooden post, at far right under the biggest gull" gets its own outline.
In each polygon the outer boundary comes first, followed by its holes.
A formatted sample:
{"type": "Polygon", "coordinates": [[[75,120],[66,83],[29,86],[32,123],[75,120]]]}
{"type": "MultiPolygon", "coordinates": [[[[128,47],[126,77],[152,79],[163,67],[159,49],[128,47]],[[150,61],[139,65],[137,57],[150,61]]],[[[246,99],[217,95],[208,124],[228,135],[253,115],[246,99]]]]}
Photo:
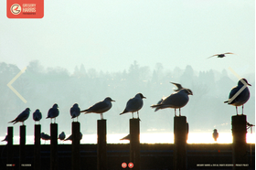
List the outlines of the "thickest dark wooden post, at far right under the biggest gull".
{"type": "Polygon", "coordinates": [[[246,115],[235,115],[232,116],[232,135],[233,135],[233,144],[232,144],[232,160],[233,160],[233,169],[247,169],[248,160],[246,152],[246,129],[247,121],[246,115]]]}

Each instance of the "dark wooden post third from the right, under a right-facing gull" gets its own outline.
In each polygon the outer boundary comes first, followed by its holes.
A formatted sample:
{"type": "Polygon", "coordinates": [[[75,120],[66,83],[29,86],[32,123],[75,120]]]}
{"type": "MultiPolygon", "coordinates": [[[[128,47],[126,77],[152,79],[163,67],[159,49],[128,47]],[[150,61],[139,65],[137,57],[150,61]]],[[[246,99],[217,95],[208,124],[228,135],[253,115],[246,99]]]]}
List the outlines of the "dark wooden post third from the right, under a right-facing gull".
{"type": "Polygon", "coordinates": [[[130,119],[130,163],[133,163],[133,170],[141,169],[139,119],[130,119]]]}

